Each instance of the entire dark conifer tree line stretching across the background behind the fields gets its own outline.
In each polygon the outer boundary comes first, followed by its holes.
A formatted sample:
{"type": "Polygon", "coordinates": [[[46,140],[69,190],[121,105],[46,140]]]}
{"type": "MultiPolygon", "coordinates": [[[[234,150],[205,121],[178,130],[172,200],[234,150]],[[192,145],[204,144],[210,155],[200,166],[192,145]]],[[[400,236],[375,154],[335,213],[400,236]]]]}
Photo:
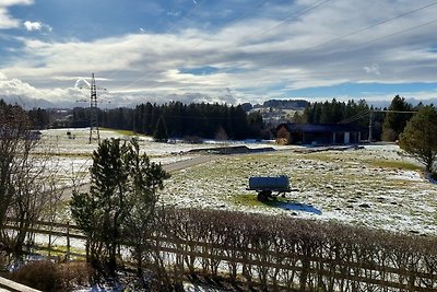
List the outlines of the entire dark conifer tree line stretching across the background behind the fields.
{"type": "MultiPolygon", "coordinates": [[[[388,107],[368,105],[365,100],[340,102],[333,98],[324,102],[271,101],[271,106],[285,108],[288,105],[305,106],[295,110],[290,122],[298,124],[350,124],[362,129],[362,137],[368,136],[371,113],[371,136],[374,140],[397,141],[406,122],[424,105],[413,106],[404,97],[397,95],[388,107]],[[409,113],[411,112],[411,113],[409,113]]],[[[132,130],[138,133],[156,136],[157,140],[167,138],[199,137],[216,138],[225,133],[227,139],[270,138],[271,130],[277,125],[265,125],[260,112],[247,112],[245,105],[226,104],[182,104],[170,102],[164,105],[145,103],[134,108],[114,108],[98,110],[101,127],[132,130]]],[[[28,112],[36,128],[88,127],[90,108],[76,107],[70,110],[66,124],[56,121],[56,113],[35,108],[28,112]]]]}

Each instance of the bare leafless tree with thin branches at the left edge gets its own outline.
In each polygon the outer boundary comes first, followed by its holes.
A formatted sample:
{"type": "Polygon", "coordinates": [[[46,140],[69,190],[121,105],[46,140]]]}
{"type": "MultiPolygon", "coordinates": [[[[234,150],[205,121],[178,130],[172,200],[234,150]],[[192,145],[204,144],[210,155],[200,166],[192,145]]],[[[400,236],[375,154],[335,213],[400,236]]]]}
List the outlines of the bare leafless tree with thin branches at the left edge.
{"type": "Polygon", "coordinates": [[[56,203],[47,184],[50,156],[38,143],[26,112],[0,101],[0,243],[13,253],[22,252],[34,223],[56,203]]]}

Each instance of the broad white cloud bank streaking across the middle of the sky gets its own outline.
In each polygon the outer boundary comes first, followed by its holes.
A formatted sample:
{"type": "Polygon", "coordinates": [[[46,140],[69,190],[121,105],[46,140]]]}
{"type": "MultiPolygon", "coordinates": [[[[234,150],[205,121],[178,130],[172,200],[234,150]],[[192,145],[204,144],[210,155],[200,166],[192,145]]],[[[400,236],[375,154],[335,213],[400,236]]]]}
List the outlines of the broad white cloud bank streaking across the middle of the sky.
{"type": "MultiPolygon", "coordinates": [[[[314,1],[297,2],[300,8],[314,1]]],[[[433,20],[437,5],[376,25],[420,7],[397,3],[330,1],[285,21],[285,13],[298,8],[268,3],[264,15],[214,31],[198,25],[165,34],[143,34],[140,28],[139,34],[93,42],[22,38],[21,54],[2,72],[42,89],[70,87],[95,72],[103,78],[102,86],[127,101],[174,94],[182,100],[226,100],[226,87],[233,89],[234,101],[255,101],[344,82],[436,82],[435,30],[409,28],[433,20]],[[206,66],[216,70],[205,75],[182,70],[206,66]]],[[[38,22],[24,25],[29,31],[45,27],[38,22]]]]}

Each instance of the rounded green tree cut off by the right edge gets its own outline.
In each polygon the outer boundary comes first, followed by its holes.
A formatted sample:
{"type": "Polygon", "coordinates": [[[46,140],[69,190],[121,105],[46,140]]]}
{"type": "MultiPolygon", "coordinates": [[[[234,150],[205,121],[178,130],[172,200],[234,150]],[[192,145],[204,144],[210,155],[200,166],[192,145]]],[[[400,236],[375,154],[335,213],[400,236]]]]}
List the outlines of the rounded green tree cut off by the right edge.
{"type": "Polygon", "coordinates": [[[399,145],[422,162],[428,172],[435,171],[437,155],[437,109],[423,106],[406,124],[399,145]]]}

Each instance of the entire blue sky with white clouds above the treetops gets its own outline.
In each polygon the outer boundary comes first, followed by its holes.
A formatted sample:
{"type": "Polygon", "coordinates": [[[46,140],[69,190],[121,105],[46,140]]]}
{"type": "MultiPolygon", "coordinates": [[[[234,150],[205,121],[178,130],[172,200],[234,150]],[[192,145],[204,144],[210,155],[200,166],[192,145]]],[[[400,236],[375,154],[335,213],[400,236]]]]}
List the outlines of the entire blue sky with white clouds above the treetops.
{"type": "Polygon", "coordinates": [[[434,101],[436,30],[433,0],[0,0],[0,98],[434,101]]]}

